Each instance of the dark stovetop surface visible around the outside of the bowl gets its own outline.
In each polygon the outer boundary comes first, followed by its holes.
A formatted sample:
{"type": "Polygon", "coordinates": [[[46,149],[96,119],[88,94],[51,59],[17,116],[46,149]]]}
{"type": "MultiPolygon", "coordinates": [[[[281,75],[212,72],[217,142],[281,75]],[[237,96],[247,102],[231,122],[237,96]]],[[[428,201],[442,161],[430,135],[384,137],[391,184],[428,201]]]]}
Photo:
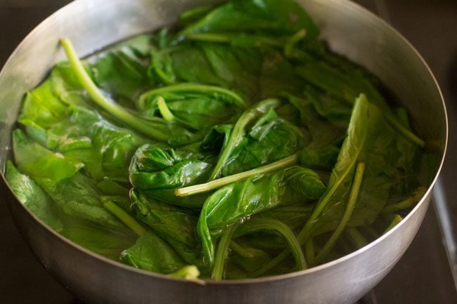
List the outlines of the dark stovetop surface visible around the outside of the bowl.
{"type": "MultiPolygon", "coordinates": [[[[47,15],[68,0],[0,0],[0,67],[20,40],[47,15]]],[[[449,238],[457,223],[453,168],[457,158],[457,1],[456,0],[356,0],[380,15],[411,41],[423,55],[442,87],[449,112],[449,152],[434,206],[408,251],[378,286],[360,303],[457,303],[452,277],[453,243],[449,238]],[[437,208],[438,207],[438,208],[437,208]],[[443,213],[445,211],[449,213],[443,213]],[[437,212],[439,211],[439,220],[437,212]],[[444,218],[444,220],[443,220],[444,218]],[[446,225],[446,219],[449,225],[446,225]],[[444,223],[444,225],[440,225],[444,223]],[[442,237],[444,227],[447,239],[442,237]],[[446,248],[450,252],[446,256],[446,248]]],[[[34,258],[15,229],[0,193],[0,303],[71,304],[78,301],[55,282],[34,258]]]]}

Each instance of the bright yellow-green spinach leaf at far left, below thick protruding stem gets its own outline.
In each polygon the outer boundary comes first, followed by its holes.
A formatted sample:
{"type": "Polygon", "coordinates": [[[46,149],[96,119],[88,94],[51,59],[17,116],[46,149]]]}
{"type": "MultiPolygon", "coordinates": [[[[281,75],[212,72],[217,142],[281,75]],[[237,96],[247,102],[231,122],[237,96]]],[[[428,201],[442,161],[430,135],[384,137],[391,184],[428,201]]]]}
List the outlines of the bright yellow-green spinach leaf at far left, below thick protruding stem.
{"type": "Polygon", "coordinates": [[[63,103],[58,96],[70,92],[75,79],[61,78],[57,85],[58,75],[69,73],[61,66],[53,72],[57,73],[51,77],[53,81],[26,95],[19,121],[27,134],[45,147],[81,161],[96,180],[109,177],[127,181],[130,158],[145,140],[82,105],[63,103]]]}

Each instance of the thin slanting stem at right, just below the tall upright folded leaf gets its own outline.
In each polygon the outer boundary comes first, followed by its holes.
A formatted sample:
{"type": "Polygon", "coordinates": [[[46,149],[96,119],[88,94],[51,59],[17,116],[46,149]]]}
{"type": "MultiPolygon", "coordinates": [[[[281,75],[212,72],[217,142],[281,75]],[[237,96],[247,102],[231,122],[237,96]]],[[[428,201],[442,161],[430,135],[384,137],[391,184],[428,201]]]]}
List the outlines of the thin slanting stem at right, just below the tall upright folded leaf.
{"type": "Polygon", "coordinates": [[[328,239],[326,244],[323,246],[323,249],[321,250],[321,252],[319,252],[318,255],[316,256],[316,259],[314,260],[315,264],[321,263],[323,258],[325,258],[327,256],[327,254],[330,252],[330,250],[333,249],[335,242],[340,237],[342,232],[345,230],[347,223],[349,223],[349,220],[351,219],[351,216],[352,216],[352,211],[354,211],[354,208],[357,203],[357,199],[359,197],[360,185],[362,183],[364,170],[365,170],[365,164],[363,162],[359,162],[359,164],[357,164],[357,167],[356,167],[356,174],[354,176],[354,182],[352,183],[351,193],[349,194],[349,199],[347,201],[345,213],[343,213],[340,223],[338,224],[337,228],[331,235],[330,239],[328,239]]]}

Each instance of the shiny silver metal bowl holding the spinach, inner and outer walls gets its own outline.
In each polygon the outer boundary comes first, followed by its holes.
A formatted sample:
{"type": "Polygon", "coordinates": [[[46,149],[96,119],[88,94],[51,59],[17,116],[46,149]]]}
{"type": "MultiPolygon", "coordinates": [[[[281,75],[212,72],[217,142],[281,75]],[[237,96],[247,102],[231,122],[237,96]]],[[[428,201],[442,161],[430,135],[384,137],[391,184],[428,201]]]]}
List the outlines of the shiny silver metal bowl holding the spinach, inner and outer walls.
{"type": "MultiPolygon", "coordinates": [[[[44,21],[22,42],[0,74],[0,164],[3,166],[8,156],[9,134],[22,93],[37,85],[53,63],[63,58],[58,38],[69,37],[79,55],[87,55],[117,40],[172,23],[184,8],[207,2],[212,1],[78,0],[44,21]]],[[[434,143],[441,160],[447,138],[442,96],[413,48],[384,22],[349,1],[300,2],[335,51],[368,67],[400,98],[418,131],[434,143]]],[[[349,304],[377,284],[404,253],[423,220],[430,189],[403,223],[349,256],[304,272],[207,282],[206,286],[94,256],[41,225],[12,194],[9,199],[18,227],[37,258],[51,275],[90,303],[349,304]]]]}

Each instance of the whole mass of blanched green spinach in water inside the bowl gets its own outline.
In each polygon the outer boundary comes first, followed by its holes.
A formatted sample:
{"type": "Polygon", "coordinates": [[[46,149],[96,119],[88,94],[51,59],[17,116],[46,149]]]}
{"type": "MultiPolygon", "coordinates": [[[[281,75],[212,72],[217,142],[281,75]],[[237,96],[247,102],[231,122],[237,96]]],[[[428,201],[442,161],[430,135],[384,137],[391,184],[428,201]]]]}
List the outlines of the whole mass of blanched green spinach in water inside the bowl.
{"type": "Polygon", "coordinates": [[[25,94],[8,182],[73,242],[173,277],[358,249],[423,196],[425,143],[318,34],[292,0],[234,0],[84,60],[62,39],[68,62],[25,94]]]}

